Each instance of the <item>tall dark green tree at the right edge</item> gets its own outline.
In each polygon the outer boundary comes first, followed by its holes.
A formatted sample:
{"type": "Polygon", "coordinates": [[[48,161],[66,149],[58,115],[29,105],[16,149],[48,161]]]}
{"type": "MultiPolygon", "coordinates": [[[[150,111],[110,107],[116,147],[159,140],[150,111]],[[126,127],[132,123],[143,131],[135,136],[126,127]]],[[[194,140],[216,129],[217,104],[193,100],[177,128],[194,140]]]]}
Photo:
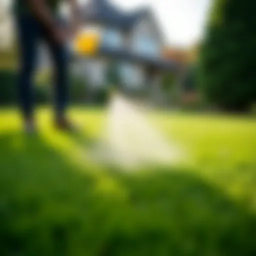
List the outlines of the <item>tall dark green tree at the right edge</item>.
{"type": "Polygon", "coordinates": [[[256,2],[215,0],[200,57],[206,98],[225,110],[256,101],[256,2]]]}

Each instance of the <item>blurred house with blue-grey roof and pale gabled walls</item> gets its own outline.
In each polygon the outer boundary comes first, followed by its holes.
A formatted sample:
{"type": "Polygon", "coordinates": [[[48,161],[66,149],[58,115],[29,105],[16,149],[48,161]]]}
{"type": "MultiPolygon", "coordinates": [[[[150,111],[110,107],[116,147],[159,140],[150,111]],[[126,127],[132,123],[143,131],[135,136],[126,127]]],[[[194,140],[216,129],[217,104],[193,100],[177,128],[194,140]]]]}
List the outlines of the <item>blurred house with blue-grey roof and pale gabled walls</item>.
{"type": "MultiPolygon", "coordinates": [[[[163,57],[161,31],[150,9],[125,12],[109,0],[89,0],[81,6],[81,15],[84,25],[78,38],[84,38],[85,50],[76,47],[75,69],[91,87],[109,82],[113,60],[122,85],[129,88],[159,84],[163,72],[177,68],[163,57]]],[[[79,39],[74,40],[74,49],[75,45],[79,39]]]]}

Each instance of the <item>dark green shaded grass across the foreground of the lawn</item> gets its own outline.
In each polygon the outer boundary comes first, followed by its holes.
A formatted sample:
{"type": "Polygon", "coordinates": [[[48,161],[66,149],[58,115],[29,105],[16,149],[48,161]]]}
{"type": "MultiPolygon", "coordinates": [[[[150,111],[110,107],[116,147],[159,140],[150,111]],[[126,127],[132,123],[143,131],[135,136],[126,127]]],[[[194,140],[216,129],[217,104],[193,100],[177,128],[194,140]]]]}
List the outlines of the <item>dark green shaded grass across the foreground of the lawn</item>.
{"type": "Polygon", "coordinates": [[[0,227],[1,255],[256,253],[255,217],[192,171],[93,174],[18,133],[0,135],[0,227]]]}

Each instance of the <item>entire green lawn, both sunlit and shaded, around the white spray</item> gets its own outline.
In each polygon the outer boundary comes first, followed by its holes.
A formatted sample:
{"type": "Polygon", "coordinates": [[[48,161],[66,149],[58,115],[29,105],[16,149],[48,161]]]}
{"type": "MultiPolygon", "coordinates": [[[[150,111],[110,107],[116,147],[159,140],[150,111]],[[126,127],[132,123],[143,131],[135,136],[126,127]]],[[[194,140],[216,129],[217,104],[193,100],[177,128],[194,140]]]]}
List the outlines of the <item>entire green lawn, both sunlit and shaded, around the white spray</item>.
{"type": "Polygon", "coordinates": [[[101,110],[72,109],[82,127],[38,135],[0,110],[0,255],[256,255],[256,120],[155,113],[187,158],[127,172],[92,164],[101,110]]]}

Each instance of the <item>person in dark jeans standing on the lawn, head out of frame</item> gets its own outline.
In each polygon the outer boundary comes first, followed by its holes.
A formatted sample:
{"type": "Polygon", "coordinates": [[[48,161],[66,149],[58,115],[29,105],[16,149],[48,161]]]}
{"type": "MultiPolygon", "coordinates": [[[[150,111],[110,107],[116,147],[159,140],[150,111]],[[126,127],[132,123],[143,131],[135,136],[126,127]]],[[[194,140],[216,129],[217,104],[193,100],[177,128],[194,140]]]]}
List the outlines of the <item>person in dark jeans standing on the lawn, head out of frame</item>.
{"type": "Polygon", "coordinates": [[[57,9],[64,0],[14,0],[14,16],[19,46],[18,95],[24,128],[35,131],[32,80],[38,46],[44,41],[54,68],[54,122],[60,129],[72,129],[66,117],[68,100],[68,51],[66,42],[78,27],[77,0],[66,0],[71,10],[69,26],[59,22],[57,9]]]}

